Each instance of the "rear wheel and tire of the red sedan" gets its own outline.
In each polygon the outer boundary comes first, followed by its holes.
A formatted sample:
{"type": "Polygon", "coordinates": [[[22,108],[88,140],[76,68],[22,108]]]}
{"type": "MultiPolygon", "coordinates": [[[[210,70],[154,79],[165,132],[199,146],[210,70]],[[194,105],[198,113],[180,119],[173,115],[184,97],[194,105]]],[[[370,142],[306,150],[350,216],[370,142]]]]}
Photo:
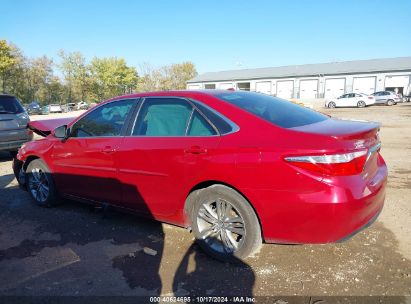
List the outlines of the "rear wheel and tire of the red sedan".
{"type": "Polygon", "coordinates": [[[262,244],[261,227],[250,203],[224,185],[197,190],[190,208],[192,231],[200,247],[224,262],[255,254],[262,244]]]}

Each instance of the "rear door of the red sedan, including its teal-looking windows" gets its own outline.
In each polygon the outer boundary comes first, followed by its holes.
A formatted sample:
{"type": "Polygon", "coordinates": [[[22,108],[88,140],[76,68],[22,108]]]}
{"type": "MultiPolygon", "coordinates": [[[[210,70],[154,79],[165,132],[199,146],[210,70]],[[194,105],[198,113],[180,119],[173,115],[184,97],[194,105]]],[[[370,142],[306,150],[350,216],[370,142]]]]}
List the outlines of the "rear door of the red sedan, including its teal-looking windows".
{"type": "Polygon", "coordinates": [[[220,136],[183,98],[148,97],[138,112],[117,154],[123,200],[130,209],[167,217],[206,170],[220,136]]]}

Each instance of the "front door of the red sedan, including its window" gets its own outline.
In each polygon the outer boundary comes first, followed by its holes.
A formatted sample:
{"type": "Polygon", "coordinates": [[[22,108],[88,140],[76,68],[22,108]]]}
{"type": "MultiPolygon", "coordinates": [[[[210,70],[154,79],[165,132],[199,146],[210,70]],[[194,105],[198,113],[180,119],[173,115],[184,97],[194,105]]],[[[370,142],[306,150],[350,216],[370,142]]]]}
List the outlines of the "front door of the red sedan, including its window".
{"type": "Polygon", "coordinates": [[[134,99],[96,107],[70,126],[70,136],[53,146],[51,158],[60,192],[95,201],[121,204],[115,154],[134,99]]]}

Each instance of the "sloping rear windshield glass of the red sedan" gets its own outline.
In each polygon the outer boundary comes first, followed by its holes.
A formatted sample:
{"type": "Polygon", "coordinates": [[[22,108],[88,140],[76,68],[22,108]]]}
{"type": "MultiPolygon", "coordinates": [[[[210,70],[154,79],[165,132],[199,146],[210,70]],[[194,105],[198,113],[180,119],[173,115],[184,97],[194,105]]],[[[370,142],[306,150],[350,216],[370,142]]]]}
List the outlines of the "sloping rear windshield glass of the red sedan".
{"type": "Polygon", "coordinates": [[[282,128],[300,127],[329,118],[290,101],[262,93],[227,92],[216,96],[282,128]]]}

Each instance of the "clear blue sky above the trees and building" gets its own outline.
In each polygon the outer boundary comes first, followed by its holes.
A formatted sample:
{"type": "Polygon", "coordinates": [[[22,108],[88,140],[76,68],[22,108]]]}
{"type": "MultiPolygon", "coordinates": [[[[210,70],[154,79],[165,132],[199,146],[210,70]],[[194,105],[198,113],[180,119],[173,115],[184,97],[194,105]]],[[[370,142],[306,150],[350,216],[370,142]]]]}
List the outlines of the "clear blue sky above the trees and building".
{"type": "Polygon", "coordinates": [[[411,56],[410,0],[0,0],[28,57],[80,51],[199,73],[411,56]]]}

